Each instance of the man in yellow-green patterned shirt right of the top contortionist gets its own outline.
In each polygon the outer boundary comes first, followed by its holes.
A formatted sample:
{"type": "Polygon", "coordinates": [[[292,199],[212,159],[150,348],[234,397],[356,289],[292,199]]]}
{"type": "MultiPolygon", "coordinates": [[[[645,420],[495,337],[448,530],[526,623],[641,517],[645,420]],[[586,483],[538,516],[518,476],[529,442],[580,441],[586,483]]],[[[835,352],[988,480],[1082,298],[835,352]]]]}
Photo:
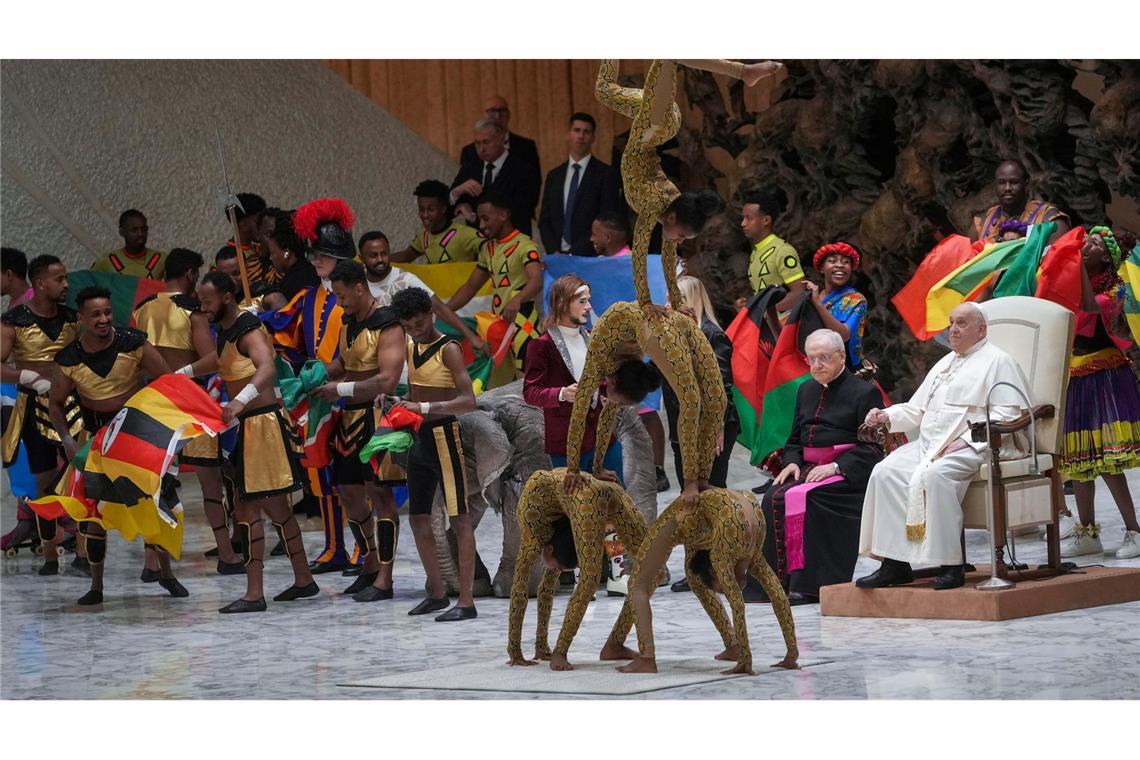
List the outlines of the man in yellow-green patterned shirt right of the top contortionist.
{"type": "MultiPolygon", "coordinates": [[[[740,219],[740,229],[752,244],[748,263],[748,281],[752,292],[759,293],[769,285],[787,287],[788,297],[779,304],[781,310],[795,303],[806,283],[796,248],[774,231],[775,220],[787,206],[788,196],[781,188],[765,187],[744,197],[740,219]]],[[[743,308],[741,301],[747,299],[739,300],[738,308],[743,308]]]]}

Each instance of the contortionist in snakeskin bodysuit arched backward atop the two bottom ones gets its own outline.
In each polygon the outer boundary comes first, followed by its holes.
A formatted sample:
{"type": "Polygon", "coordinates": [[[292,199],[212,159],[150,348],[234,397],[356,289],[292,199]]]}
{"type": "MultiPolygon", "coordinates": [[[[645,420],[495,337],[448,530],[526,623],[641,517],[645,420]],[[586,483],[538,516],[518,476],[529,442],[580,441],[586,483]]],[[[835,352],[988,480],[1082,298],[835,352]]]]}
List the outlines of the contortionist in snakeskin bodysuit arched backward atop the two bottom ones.
{"type": "Polygon", "coordinates": [[[648,353],[681,400],[678,439],[684,471],[681,498],[695,502],[708,488],[712,461],[724,447],[727,403],[716,354],[697,322],[678,311],[649,317],[641,304],[619,301],[601,316],[591,334],[585,368],[578,379],[567,433],[568,491],[583,483],[579,474],[583,434],[594,394],[606,379],[605,407],[597,423],[595,461],[602,461],[618,406],[640,403],[660,384],[658,373],[642,361],[648,353]]]}

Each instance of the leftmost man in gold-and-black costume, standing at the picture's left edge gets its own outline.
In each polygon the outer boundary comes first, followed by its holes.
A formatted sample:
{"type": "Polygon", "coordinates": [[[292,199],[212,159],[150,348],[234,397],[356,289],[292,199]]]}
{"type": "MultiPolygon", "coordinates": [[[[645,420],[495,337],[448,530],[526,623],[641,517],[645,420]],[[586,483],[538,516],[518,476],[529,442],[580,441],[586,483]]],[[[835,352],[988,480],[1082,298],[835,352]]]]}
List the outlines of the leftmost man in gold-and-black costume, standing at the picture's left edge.
{"type": "MultiPolygon", "coordinates": [[[[3,431],[3,466],[15,460],[24,443],[28,467],[35,477],[35,496],[51,488],[59,469],[59,434],[48,412],[47,394],[55,373],[56,354],[79,335],[75,312],[64,305],[67,299],[67,268],[52,255],[32,259],[27,265],[32,297],[0,316],[0,379],[16,383],[19,395],[3,431]]],[[[79,403],[66,401],[68,428],[78,434],[82,427],[79,403]]],[[[43,542],[43,566],[40,575],[59,572],[55,545],[56,521],[36,516],[35,525],[43,542]]],[[[74,566],[87,572],[82,541],[76,542],[74,566]]]]}

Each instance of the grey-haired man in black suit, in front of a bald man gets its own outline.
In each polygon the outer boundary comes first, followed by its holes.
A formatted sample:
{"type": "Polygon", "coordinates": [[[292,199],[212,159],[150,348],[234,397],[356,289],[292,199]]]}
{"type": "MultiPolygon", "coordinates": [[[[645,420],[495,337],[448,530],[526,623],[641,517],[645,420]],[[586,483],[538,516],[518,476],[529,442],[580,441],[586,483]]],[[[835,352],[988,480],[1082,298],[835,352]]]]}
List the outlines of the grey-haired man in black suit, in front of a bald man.
{"type": "Polygon", "coordinates": [[[543,178],[538,169],[506,149],[506,132],[490,119],[475,123],[475,161],[459,165],[451,182],[451,203],[456,214],[473,218],[475,198],[494,190],[511,204],[511,222],[530,235],[530,221],[538,206],[543,178]]]}

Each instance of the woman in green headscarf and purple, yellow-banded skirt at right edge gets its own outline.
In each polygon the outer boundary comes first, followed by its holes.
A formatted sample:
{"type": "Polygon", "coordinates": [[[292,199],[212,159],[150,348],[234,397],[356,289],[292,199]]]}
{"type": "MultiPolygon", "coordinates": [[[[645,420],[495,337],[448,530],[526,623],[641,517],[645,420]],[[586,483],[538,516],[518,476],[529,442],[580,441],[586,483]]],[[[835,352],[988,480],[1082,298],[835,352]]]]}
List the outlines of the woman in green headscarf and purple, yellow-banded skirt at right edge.
{"type": "Polygon", "coordinates": [[[1081,252],[1082,309],[1069,360],[1060,459],[1073,479],[1080,522],[1061,542],[1062,557],[1104,553],[1093,510],[1097,477],[1104,479],[1124,518],[1116,558],[1140,557],[1140,524],[1124,477],[1125,469],[1140,466],[1140,391],[1124,356],[1132,342],[1118,327],[1125,297],[1117,273],[1123,255],[1109,228],[1089,230],[1081,252]]]}

